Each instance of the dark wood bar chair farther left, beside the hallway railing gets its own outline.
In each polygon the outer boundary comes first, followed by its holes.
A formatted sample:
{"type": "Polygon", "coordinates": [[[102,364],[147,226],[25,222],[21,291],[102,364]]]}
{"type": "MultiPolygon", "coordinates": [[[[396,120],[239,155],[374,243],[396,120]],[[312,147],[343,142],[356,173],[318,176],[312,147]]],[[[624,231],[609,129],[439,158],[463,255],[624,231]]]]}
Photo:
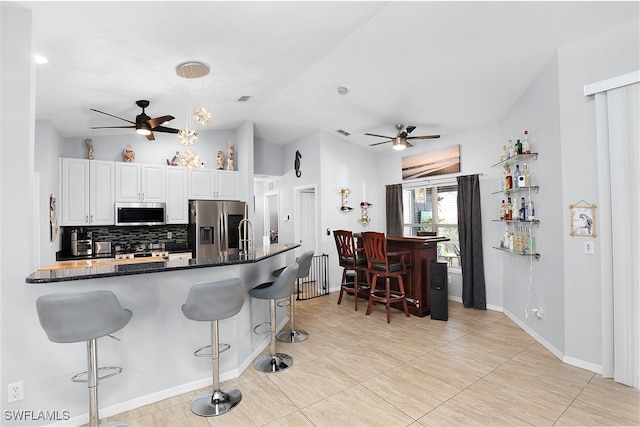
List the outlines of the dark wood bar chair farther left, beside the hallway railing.
{"type": "Polygon", "coordinates": [[[364,248],[356,246],[355,236],[351,231],[334,230],[333,237],[336,241],[336,249],[338,250],[338,263],[342,270],[342,282],[340,282],[340,296],[338,304],[342,302],[344,292],[353,295],[355,299],[355,310],[358,311],[358,293],[360,291],[368,292],[371,288],[369,275],[367,274],[367,257],[364,248]],[[349,272],[354,275],[353,282],[347,282],[349,272]],[[366,282],[359,281],[360,272],[364,273],[366,282]]]}

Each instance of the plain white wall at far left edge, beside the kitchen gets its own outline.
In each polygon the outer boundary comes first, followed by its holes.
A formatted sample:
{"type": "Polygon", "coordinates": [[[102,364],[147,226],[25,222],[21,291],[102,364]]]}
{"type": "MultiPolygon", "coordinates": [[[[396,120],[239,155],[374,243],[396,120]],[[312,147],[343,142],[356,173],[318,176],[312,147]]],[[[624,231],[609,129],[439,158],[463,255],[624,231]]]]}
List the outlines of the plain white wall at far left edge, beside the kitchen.
{"type": "MultiPolygon", "coordinates": [[[[31,11],[2,2],[0,19],[0,399],[2,409],[7,409],[7,384],[24,379],[16,367],[24,366],[25,352],[39,354],[41,350],[28,339],[38,322],[29,317],[35,312],[34,300],[24,283],[25,277],[35,268],[34,260],[39,252],[36,247],[40,241],[33,232],[35,213],[32,211],[35,205],[32,199],[34,65],[26,54],[33,51],[31,11]]],[[[48,210],[48,203],[45,206],[48,210]]],[[[24,403],[14,404],[12,409],[28,407],[24,403]]]]}

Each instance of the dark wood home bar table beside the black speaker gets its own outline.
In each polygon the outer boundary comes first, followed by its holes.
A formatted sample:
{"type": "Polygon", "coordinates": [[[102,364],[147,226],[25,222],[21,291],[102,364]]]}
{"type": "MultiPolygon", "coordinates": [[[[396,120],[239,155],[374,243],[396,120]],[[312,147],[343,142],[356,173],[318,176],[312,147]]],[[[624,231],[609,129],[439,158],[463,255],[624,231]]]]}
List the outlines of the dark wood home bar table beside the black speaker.
{"type": "MultiPolygon", "coordinates": [[[[431,261],[438,258],[438,242],[446,237],[387,236],[387,250],[407,251],[411,254],[411,270],[402,277],[409,313],[418,317],[431,314],[431,261]]],[[[397,286],[397,285],[396,285],[397,286]]],[[[392,306],[402,310],[401,304],[392,306]]]]}

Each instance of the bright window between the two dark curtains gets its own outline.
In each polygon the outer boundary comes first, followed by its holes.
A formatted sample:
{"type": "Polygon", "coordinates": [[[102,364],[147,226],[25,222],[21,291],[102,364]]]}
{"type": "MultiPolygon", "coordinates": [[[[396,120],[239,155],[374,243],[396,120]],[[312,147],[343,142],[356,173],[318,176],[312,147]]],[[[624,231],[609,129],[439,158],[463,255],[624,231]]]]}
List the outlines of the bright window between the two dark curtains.
{"type": "Polygon", "coordinates": [[[433,232],[449,238],[448,242],[438,243],[438,261],[446,262],[449,269],[460,269],[458,185],[455,181],[403,186],[402,203],[404,235],[433,232]]]}

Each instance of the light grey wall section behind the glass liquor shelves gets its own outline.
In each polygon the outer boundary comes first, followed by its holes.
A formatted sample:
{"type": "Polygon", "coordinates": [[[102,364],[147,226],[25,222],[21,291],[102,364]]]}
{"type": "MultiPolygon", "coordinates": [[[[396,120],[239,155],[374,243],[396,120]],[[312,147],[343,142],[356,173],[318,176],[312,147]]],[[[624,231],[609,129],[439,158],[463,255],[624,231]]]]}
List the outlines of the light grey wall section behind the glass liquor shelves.
{"type": "MultiPolygon", "coordinates": [[[[540,260],[502,254],[504,257],[504,311],[526,325],[561,357],[564,351],[564,283],[562,250],[562,175],[558,60],[553,57],[501,121],[502,141],[523,137],[529,131],[531,149],[538,160],[528,161],[532,185],[540,192],[532,196],[540,226],[534,227],[540,260]],[[543,319],[530,311],[539,309],[543,319]]],[[[522,165],[520,165],[522,167],[522,165]]],[[[513,170],[513,167],[512,167],[513,170]]],[[[519,203],[517,193],[512,201],[519,203]]],[[[528,195],[524,194],[525,197],[528,195]]]]}

